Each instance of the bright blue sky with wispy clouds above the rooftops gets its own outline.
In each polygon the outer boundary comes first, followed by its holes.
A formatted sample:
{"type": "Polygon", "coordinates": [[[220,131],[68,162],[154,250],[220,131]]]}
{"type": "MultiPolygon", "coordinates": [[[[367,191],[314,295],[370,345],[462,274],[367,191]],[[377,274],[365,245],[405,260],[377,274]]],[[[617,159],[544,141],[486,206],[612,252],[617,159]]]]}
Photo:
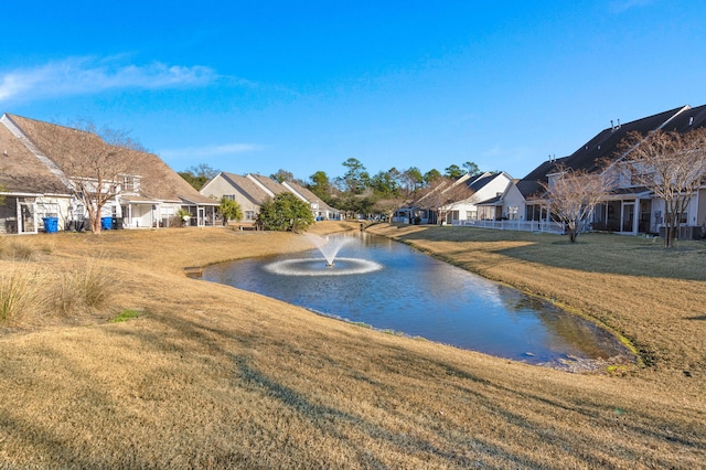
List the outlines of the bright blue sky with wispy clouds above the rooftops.
{"type": "Polygon", "coordinates": [[[522,178],[706,104],[706,2],[3,2],[0,111],[127,129],[175,170],[522,178]]]}

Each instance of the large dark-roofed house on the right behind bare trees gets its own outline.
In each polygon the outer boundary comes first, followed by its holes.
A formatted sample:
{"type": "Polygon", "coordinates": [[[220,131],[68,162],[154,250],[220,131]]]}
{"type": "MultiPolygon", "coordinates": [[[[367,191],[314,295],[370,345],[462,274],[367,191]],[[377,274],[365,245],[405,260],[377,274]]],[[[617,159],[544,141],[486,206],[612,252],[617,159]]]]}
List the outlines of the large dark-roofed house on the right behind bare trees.
{"type": "MultiPolygon", "coordinates": [[[[627,157],[621,151],[621,142],[631,133],[661,129],[664,131],[687,132],[706,125],[706,106],[688,105],[670,109],[653,116],[627,124],[612,122],[574,153],[559,159],[549,159],[532,170],[525,178],[515,182],[498,201],[485,202],[502,206],[505,213],[518,214],[516,222],[478,224],[495,228],[561,232],[563,226],[552,221],[547,210],[544,185],[552,179],[560,178],[561,168],[589,173],[614,171],[616,165],[627,157]]],[[[616,189],[610,191],[595,209],[587,228],[624,234],[659,233],[664,222],[664,202],[648,188],[632,184],[629,178],[622,178],[616,189]]],[[[509,217],[510,218],[510,217],[509,217]]],[[[684,220],[682,237],[700,234],[699,225],[706,224],[706,188],[702,188],[688,204],[684,220]],[[686,228],[694,229],[686,229],[686,228]]]]}

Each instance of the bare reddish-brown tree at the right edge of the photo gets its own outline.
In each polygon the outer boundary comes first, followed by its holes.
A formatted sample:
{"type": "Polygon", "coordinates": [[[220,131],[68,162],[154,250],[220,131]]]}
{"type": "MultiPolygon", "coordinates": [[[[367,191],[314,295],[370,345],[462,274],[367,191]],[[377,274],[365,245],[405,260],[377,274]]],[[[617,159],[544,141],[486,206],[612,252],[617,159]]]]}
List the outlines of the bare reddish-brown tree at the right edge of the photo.
{"type": "Polygon", "coordinates": [[[688,202],[706,175],[706,128],[686,133],[656,130],[632,132],[622,142],[631,183],[642,185],[664,201],[664,247],[674,246],[688,202]]]}

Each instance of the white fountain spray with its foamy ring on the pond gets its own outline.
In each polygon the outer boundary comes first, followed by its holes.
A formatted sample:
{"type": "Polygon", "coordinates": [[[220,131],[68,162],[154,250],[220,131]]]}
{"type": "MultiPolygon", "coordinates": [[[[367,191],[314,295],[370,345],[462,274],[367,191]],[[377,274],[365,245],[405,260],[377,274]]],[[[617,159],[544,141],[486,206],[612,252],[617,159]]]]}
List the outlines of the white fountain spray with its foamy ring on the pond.
{"type": "Polygon", "coordinates": [[[372,273],[383,268],[381,264],[368,259],[338,257],[341,248],[353,242],[353,238],[338,237],[331,239],[312,234],[307,234],[307,237],[321,253],[323,259],[286,259],[270,263],[265,266],[265,269],[284,276],[343,276],[372,273]]]}

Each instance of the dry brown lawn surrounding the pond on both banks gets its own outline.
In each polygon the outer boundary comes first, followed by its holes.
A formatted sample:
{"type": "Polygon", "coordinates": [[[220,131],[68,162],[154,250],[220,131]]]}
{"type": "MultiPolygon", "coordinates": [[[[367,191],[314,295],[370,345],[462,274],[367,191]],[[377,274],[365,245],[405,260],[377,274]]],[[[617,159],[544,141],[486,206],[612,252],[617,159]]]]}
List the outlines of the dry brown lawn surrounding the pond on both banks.
{"type": "Polygon", "coordinates": [[[57,234],[51,255],[31,264],[71,271],[92,259],[121,289],[78,319],[19,324],[0,338],[0,468],[703,467],[704,279],[591,267],[598,255],[578,259],[558,237],[447,228],[371,229],[586,308],[654,351],[653,365],[567,374],[359,328],[183,273],[303,249],[302,236],[57,234]],[[677,289],[678,305],[656,293],[664,288],[677,289]],[[642,312],[634,306],[646,295],[642,312]],[[142,314],[107,321],[125,308],[142,314]],[[681,332],[661,331],[667,324],[681,332]]]}

